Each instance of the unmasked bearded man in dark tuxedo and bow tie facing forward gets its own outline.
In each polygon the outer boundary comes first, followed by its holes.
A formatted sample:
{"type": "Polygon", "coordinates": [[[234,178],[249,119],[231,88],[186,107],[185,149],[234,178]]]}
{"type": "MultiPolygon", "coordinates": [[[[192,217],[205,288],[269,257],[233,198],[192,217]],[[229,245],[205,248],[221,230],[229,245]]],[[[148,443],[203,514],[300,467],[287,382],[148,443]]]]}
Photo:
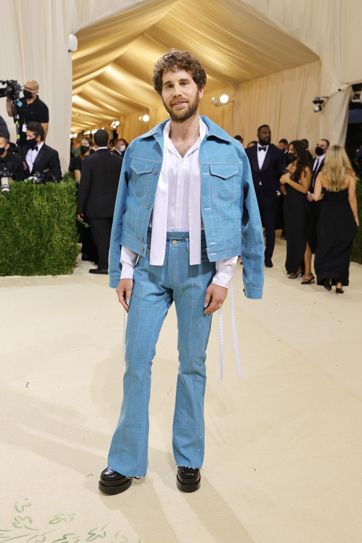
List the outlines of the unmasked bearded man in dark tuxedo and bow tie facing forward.
{"type": "Polygon", "coordinates": [[[265,266],[272,267],[271,257],[275,245],[275,214],[277,191],[284,172],[284,153],[270,143],[271,131],[267,124],[258,128],[258,144],[245,149],[249,159],[253,184],[259,205],[262,223],[265,227],[265,266]]]}

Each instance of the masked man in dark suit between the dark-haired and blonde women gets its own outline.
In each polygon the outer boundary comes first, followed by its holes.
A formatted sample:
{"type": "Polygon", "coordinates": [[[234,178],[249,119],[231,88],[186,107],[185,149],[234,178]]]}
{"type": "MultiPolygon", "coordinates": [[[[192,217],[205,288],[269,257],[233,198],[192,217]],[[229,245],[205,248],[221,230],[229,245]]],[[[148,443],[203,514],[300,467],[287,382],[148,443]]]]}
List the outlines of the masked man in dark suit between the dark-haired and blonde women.
{"type": "Polygon", "coordinates": [[[307,241],[312,252],[315,252],[317,246],[317,222],[319,220],[322,200],[314,201],[314,184],[317,175],[323,168],[325,157],[329,148],[328,140],[319,140],[315,148],[315,154],[317,155],[313,162],[312,178],[310,178],[309,191],[307,193],[307,241]]]}

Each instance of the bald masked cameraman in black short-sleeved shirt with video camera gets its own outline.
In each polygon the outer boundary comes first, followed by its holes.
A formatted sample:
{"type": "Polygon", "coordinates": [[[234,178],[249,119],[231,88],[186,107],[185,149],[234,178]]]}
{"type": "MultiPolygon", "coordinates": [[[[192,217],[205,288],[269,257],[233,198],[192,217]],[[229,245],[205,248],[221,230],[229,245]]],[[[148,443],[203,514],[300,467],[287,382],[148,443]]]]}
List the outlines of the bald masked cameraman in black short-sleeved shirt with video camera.
{"type": "MultiPolygon", "coordinates": [[[[18,102],[20,146],[27,144],[27,127],[32,121],[38,122],[44,129],[44,140],[47,137],[49,126],[49,110],[47,105],[37,96],[39,84],[36,81],[27,81],[24,85],[24,97],[18,102]]],[[[14,104],[11,96],[7,96],[7,112],[9,117],[14,113],[14,104]]]]}

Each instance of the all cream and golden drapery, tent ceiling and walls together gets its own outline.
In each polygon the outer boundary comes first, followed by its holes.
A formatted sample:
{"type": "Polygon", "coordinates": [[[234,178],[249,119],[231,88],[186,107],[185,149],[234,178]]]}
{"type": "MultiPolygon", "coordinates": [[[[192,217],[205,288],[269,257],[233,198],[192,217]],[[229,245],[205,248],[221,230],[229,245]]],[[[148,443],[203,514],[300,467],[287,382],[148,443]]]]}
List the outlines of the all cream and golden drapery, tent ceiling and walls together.
{"type": "MultiPolygon", "coordinates": [[[[0,77],[39,81],[50,115],[47,143],[63,170],[71,129],[109,128],[118,119],[130,140],[167,118],[151,73],[170,47],[189,49],[205,66],[200,112],[228,133],[255,138],[259,122],[268,122],[274,141],[329,135],[344,143],[351,90],[343,84],[362,81],[354,53],[361,14],[359,0],[4,1],[2,37],[11,46],[0,77]],[[79,39],[73,66],[71,32],[79,39]],[[223,89],[231,102],[215,108],[210,96],[223,89]],[[322,113],[313,113],[315,94],[332,94],[322,113]],[[149,123],[139,121],[144,113],[149,123]]],[[[14,141],[5,98],[0,115],[14,141]]]]}

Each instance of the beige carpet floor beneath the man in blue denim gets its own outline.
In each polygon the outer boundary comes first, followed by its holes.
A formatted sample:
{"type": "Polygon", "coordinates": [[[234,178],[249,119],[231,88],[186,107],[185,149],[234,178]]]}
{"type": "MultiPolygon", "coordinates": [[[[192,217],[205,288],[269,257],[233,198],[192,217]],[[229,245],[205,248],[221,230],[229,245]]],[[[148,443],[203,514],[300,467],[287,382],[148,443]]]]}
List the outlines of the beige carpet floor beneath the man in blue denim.
{"type": "Polygon", "coordinates": [[[122,401],[123,313],[107,276],[3,277],[0,542],[361,543],[362,267],[343,295],[285,276],[285,241],[264,297],[234,281],[243,378],[224,305],[208,346],[200,490],[175,485],[176,315],[157,344],[149,467],[108,497],[99,473],[122,401]]]}

